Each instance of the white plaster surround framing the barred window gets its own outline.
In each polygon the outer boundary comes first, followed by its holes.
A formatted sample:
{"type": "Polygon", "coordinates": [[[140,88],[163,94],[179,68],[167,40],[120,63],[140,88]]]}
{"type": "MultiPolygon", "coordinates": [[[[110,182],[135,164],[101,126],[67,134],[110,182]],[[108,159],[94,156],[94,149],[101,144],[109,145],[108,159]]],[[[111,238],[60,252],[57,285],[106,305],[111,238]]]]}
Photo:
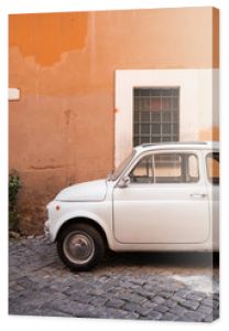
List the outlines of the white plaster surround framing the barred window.
{"type": "Polygon", "coordinates": [[[198,140],[200,130],[219,125],[218,70],[117,70],[115,162],[133,143],[133,87],[179,87],[179,140],[198,140]]]}

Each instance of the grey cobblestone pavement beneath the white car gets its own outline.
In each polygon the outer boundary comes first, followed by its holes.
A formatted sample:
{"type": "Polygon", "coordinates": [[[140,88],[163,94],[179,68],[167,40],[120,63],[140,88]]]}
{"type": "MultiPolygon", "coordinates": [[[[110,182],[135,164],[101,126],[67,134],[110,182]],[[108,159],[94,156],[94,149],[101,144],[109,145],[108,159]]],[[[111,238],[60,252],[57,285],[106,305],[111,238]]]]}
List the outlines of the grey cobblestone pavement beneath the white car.
{"type": "Polygon", "coordinates": [[[210,322],[219,314],[209,254],[109,253],[69,271],[45,238],[11,239],[9,313],[210,322]]]}

